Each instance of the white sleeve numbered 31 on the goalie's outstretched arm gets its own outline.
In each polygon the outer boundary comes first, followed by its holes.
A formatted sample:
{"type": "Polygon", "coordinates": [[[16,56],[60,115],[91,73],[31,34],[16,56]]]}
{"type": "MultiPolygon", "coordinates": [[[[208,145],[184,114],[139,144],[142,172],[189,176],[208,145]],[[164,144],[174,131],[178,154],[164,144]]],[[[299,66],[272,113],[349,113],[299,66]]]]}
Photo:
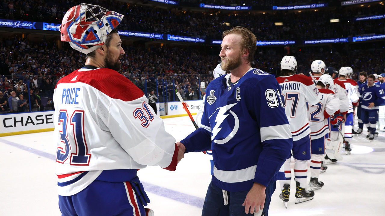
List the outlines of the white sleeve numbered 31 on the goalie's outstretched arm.
{"type": "Polygon", "coordinates": [[[162,119],[152,113],[146,96],[124,101],[100,93],[98,99],[95,113],[99,126],[108,128],[106,133],[111,133],[134,161],[176,169],[179,149],[175,139],[164,130],[162,119]]]}

